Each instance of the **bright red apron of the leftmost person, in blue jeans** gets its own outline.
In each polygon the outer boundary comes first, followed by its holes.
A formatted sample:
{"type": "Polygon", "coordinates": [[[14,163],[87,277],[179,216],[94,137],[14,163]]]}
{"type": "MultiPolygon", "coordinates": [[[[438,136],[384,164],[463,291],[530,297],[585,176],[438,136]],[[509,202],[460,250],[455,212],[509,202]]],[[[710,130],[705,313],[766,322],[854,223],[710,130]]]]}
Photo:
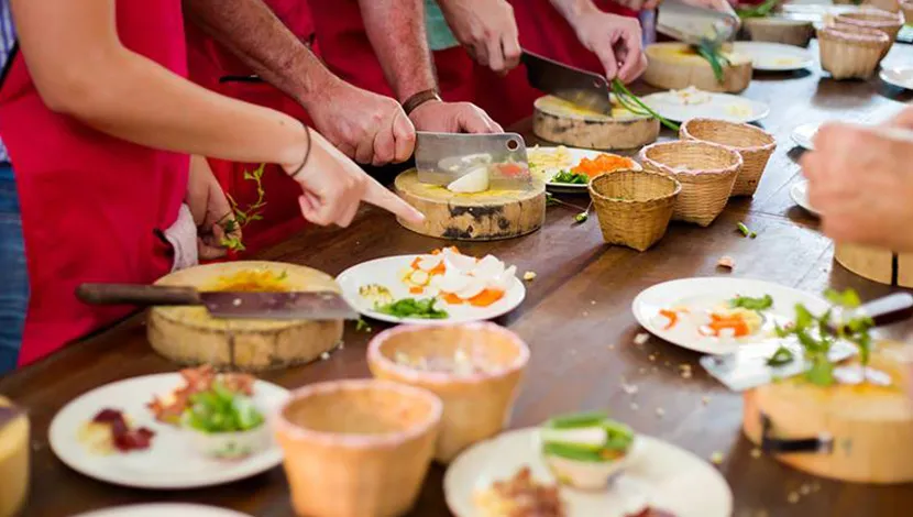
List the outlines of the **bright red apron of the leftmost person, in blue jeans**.
{"type": "MultiPolygon", "coordinates": [[[[118,1],[117,24],[124,46],[186,75],[180,3],[118,1]]],[[[0,89],[0,134],[22,206],[31,299],[20,364],[28,364],[132,310],[79,302],[80,283],[151,283],[170,271],[172,250],[154,232],[177,218],[189,160],[52,112],[21,55],[0,89]]]]}

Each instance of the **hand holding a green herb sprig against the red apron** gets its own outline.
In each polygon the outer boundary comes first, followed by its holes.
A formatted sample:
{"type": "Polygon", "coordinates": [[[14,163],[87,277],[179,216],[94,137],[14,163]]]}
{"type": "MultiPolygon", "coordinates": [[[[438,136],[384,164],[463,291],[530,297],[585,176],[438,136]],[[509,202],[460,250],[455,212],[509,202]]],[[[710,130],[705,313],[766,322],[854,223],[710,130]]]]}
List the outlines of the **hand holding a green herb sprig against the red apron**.
{"type": "Polygon", "coordinates": [[[228,253],[228,241],[241,242],[241,228],[234,211],[202,156],[190,156],[190,175],[185,202],[197,226],[197,252],[202,260],[220,258],[228,253]],[[226,231],[228,228],[230,231],[226,231]]]}

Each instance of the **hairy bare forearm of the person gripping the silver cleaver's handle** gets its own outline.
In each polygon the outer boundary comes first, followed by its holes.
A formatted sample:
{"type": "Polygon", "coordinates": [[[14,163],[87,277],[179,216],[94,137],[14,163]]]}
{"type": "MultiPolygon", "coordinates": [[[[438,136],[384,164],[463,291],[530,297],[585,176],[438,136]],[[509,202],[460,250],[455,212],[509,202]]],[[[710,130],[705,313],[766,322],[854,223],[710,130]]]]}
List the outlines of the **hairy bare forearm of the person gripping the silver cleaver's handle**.
{"type": "Polygon", "coordinates": [[[305,107],[340,80],[263,0],[184,0],[184,11],[260,77],[305,107]]]}

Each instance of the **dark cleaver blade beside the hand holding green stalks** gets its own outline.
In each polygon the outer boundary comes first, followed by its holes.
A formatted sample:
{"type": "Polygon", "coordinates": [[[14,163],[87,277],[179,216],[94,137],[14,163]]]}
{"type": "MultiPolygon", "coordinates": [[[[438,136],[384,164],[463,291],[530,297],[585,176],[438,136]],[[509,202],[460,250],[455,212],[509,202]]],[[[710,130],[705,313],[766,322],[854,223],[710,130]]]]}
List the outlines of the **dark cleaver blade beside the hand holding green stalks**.
{"type": "Polygon", "coordinates": [[[581,108],[612,113],[608,80],[592,72],[564,65],[524,50],[520,61],[534,88],[564,99],[581,108]]]}

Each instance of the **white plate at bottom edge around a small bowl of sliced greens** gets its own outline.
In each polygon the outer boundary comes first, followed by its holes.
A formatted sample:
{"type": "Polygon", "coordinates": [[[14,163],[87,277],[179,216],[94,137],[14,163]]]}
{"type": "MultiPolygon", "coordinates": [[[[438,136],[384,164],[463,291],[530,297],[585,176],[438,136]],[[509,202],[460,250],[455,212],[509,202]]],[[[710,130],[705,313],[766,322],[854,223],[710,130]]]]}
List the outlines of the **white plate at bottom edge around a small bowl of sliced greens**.
{"type": "MultiPolygon", "coordinates": [[[[638,436],[631,465],[605,492],[561,487],[570,517],[624,517],[646,504],[676,517],[729,517],[733,494],[708,463],[671,443],[638,436]]],[[[509,431],[477,443],[450,465],[443,486],[447,505],[458,517],[479,515],[476,491],[514,476],[528,465],[539,482],[554,483],[538,450],[538,429],[509,431]]]]}

